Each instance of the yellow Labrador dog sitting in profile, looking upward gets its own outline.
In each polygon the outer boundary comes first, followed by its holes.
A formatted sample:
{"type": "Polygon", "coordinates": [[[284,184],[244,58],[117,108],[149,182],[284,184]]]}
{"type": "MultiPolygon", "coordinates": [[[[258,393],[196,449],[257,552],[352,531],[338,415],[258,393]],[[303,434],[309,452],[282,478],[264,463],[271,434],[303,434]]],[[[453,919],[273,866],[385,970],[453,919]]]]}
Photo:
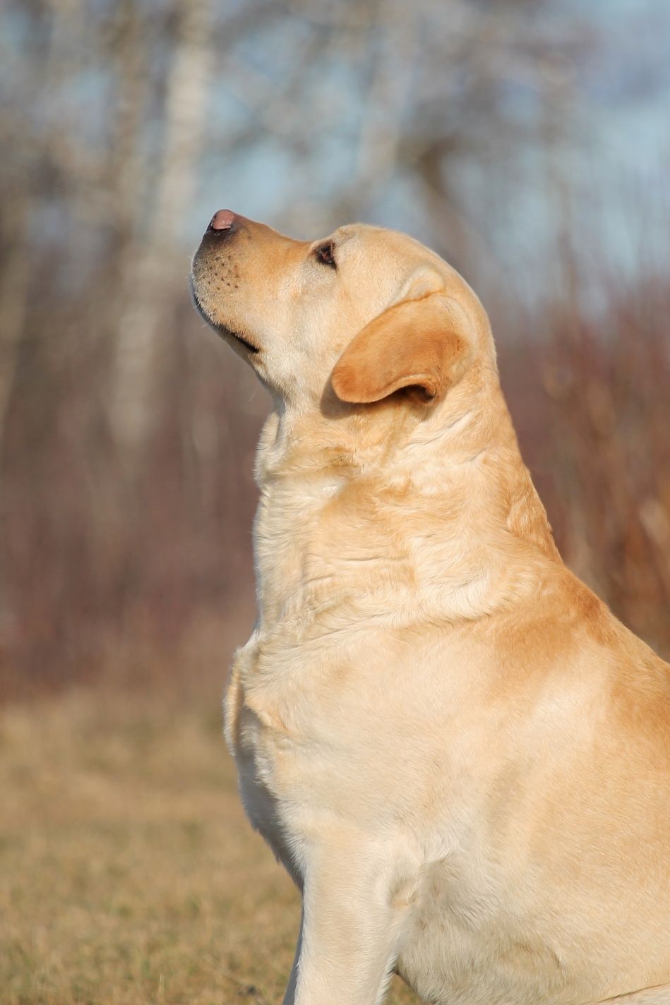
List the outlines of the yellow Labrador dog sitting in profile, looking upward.
{"type": "Polygon", "coordinates": [[[226,737],[303,894],[285,1003],[670,1002],[670,666],[562,565],[489,322],[415,240],[219,210],[205,320],[274,408],[226,737]]]}

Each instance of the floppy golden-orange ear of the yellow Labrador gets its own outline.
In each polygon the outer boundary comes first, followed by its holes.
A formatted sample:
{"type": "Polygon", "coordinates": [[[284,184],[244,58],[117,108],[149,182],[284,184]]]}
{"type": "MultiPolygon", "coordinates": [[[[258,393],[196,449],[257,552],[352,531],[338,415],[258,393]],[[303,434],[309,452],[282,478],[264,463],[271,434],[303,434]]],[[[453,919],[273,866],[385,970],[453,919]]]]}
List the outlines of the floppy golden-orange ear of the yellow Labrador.
{"type": "Polygon", "coordinates": [[[414,282],[354,336],[331,374],[333,390],[351,404],[380,401],[403,387],[440,398],[466,369],[473,348],[468,328],[453,297],[414,282]]]}

